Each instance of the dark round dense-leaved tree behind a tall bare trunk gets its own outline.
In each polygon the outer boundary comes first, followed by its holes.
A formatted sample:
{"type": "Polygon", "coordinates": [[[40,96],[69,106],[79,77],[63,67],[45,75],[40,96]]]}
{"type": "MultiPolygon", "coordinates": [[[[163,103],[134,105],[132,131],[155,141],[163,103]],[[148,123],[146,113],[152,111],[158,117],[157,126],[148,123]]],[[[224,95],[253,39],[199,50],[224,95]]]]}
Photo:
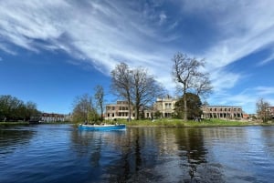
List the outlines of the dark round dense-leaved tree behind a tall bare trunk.
{"type": "Polygon", "coordinates": [[[196,94],[185,93],[174,105],[174,111],[177,117],[184,118],[184,99],[187,104],[187,119],[195,119],[201,117],[203,111],[201,110],[202,102],[200,97],[196,94]]]}

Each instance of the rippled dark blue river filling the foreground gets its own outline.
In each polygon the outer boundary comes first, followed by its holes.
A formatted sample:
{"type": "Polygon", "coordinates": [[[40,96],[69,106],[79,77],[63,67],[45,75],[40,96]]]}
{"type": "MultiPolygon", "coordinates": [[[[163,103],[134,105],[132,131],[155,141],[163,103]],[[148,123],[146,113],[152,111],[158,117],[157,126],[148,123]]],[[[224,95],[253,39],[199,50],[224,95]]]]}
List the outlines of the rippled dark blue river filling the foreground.
{"type": "Polygon", "coordinates": [[[0,182],[273,182],[274,127],[0,127],[0,182]]]}

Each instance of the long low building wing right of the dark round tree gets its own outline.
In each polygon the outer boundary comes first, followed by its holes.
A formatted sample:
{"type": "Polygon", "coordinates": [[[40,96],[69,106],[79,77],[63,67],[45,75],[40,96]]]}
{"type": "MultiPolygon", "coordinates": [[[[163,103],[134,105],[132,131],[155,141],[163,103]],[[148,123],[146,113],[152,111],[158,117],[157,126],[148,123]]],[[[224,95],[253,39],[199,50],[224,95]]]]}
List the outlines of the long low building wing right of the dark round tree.
{"type": "Polygon", "coordinates": [[[203,106],[203,118],[242,118],[242,107],[203,106]]]}

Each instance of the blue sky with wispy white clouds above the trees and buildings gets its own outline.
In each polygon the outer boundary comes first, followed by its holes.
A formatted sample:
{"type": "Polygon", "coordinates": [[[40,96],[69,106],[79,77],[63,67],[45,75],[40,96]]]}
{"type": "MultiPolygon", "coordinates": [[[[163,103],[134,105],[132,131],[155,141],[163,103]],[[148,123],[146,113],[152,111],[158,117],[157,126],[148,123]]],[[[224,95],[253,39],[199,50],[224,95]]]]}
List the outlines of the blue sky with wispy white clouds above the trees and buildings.
{"type": "Polygon", "coordinates": [[[0,95],[69,113],[125,62],[144,66],[174,94],[172,58],[205,58],[210,105],[274,106],[274,1],[0,1],[0,95]]]}

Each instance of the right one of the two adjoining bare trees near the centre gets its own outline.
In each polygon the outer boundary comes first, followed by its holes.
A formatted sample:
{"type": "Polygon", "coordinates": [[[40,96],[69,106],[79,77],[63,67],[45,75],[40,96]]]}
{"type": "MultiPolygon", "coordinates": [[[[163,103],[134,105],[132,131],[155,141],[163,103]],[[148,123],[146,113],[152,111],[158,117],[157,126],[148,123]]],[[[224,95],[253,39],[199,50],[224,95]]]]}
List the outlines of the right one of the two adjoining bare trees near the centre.
{"type": "Polygon", "coordinates": [[[163,96],[163,87],[142,67],[132,70],[132,78],[132,100],[138,120],[141,107],[152,103],[155,97],[163,96]]]}

